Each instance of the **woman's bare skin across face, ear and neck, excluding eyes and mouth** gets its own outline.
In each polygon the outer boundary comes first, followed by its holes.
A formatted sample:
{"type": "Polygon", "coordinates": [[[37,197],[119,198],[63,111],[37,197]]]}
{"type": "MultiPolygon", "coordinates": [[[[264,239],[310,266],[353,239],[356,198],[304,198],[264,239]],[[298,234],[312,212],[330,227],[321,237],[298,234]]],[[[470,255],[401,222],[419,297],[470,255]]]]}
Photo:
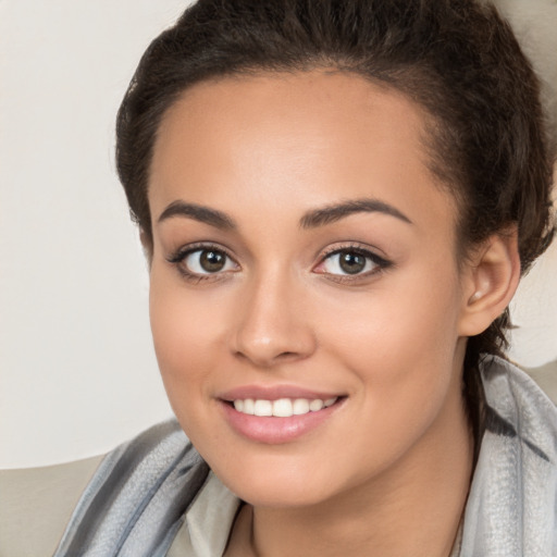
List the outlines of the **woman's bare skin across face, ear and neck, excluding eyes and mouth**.
{"type": "Polygon", "coordinates": [[[151,326],[180,423],[248,503],[228,556],[450,553],[473,451],[466,338],[508,304],[518,259],[510,234],[458,262],[458,210],[428,168],[425,122],[400,95],[313,71],[198,84],[161,123],[151,326]],[[367,210],[300,225],[361,199],[404,218],[367,210]],[[219,211],[234,227],[172,203],[219,211]],[[230,260],[185,276],[197,255],[176,262],[176,251],[200,244],[230,260]],[[341,248],[389,265],[367,260],[371,271],[347,276],[327,256],[341,248]],[[292,442],[238,434],[222,393],[277,384],[344,398],[292,442]]]}

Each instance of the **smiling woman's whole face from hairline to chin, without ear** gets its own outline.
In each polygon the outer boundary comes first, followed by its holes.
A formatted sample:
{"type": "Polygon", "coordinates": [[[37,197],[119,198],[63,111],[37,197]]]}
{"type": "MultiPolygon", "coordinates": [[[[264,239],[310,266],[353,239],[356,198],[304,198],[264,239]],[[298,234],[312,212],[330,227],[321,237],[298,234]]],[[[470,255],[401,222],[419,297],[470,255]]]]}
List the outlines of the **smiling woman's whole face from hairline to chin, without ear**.
{"type": "Polygon", "coordinates": [[[315,71],[199,84],[160,126],[156,351],[182,426],[249,503],[361,491],[456,442],[469,295],[424,122],[315,71]]]}

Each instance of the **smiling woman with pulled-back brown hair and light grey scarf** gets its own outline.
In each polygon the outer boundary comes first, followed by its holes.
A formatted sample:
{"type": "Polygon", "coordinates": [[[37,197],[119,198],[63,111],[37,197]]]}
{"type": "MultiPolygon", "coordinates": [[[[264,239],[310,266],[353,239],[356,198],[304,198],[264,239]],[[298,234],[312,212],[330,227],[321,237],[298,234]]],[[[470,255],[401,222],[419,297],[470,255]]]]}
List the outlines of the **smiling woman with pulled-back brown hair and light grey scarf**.
{"type": "Polygon", "coordinates": [[[117,121],[180,426],[104,459],[57,555],[555,554],[555,409],[500,357],[549,152],[493,8],[187,10],[117,121]]]}

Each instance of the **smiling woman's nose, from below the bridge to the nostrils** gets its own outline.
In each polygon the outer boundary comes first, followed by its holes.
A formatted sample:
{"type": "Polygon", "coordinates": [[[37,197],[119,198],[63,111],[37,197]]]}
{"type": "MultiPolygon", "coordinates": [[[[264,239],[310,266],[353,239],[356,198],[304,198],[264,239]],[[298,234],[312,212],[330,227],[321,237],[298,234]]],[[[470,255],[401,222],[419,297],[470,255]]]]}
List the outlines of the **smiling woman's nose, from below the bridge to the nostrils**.
{"type": "Polygon", "coordinates": [[[304,298],[284,277],[246,285],[232,339],[235,356],[259,368],[311,356],[317,343],[304,298]]]}

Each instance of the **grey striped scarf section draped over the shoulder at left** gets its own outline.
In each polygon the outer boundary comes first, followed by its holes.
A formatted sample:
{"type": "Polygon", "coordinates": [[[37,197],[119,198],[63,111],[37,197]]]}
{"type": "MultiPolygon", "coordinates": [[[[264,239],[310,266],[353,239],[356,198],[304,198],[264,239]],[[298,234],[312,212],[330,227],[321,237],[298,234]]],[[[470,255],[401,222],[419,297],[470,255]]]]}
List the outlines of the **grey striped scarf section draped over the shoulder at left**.
{"type": "Polygon", "coordinates": [[[163,555],[208,472],[175,420],[147,430],[103,459],[54,555],[163,555]]]}

